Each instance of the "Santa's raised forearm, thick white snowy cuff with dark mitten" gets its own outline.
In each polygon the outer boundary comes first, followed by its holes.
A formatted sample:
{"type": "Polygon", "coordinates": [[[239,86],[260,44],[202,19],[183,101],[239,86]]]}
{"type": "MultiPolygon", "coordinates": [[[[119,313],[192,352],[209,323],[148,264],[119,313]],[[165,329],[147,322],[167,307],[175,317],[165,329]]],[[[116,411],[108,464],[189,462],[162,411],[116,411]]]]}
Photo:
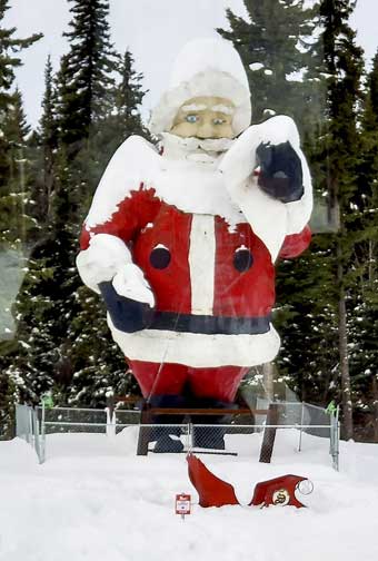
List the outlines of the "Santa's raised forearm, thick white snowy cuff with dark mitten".
{"type": "Polygon", "coordinates": [[[312,188],[290,117],[249,127],[225,156],[226,187],[275,260],[287,236],[300,234],[312,210],[312,188]]]}

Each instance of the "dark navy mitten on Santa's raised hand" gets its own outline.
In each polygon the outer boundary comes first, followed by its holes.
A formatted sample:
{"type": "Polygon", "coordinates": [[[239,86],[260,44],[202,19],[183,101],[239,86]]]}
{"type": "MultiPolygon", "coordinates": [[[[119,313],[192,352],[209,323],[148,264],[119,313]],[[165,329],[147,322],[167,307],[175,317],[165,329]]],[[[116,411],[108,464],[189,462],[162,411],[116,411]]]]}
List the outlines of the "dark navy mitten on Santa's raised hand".
{"type": "Polygon", "coordinates": [[[272,145],[261,142],[257,150],[260,167],[258,185],[282,203],[299,200],[304,195],[302,166],[289,141],[272,145]]]}

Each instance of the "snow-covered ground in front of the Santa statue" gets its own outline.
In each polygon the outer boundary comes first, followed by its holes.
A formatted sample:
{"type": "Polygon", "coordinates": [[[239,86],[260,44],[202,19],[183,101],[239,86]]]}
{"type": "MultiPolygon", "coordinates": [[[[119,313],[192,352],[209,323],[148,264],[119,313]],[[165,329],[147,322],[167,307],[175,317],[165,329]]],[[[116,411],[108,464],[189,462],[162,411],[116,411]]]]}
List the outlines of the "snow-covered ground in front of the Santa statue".
{"type": "Polygon", "coordinates": [[[47,462],[14,439],[0,443],[1,561],[376,561],[378,446],[341,443],[340,472],[328,442],[286,431],[271,464],[258,463],[260,435],[229,436],[238,456],[200,456],[233,484],[241,503],[255,484],[285,473],[308,476],[307,509],[202,509],[185,454],[136,456],[137,429],[48,436],[47,462]],[[192,513],[175,514],[189,492],[192,513]]]}

